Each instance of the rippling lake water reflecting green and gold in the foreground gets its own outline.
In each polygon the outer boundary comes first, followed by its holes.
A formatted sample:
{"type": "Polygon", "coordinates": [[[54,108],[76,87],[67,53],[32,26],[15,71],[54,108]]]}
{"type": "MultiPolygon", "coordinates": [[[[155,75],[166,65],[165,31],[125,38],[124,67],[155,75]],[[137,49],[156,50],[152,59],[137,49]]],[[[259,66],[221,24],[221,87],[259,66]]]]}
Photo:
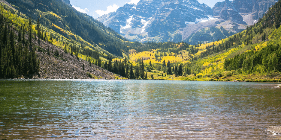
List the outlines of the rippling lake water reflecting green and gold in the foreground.
{"type": "Polygon", "coordinates": [[[279,84],[0,80],[0,139],[281,139],[279,84]]]}

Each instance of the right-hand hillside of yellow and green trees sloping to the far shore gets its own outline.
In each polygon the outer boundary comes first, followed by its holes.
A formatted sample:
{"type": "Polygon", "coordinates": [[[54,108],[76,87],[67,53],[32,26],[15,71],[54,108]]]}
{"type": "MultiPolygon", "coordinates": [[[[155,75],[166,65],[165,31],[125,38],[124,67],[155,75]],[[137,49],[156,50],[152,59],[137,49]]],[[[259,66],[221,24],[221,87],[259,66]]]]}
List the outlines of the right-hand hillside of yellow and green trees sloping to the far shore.
{"type": "Polygon", "coordinates": [[[144,60],[145,70],[159,79],[281,81],[279,11],[280,1],[256,24],[215,42],[143,43],[129,61],[144,60]]]}

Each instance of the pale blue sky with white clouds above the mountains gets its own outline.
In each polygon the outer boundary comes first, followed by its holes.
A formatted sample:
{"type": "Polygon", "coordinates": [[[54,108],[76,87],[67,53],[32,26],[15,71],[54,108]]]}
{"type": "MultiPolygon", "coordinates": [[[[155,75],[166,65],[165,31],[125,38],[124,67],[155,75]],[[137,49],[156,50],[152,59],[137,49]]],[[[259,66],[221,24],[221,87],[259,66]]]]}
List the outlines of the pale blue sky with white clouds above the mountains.
{"type": "MultiPolygon", "coordinates": [[[[137,3],[139,0],[70,0],[70,4],[78,11],[87,13],[93,18],[98,18],[104,14],[116,11],[126,3],[137,3]]],[[[213,8],[213,6],[224,0],[198,0],[213,8]]],[[[232,0],[231,0],[232,1],[232,0]]]]}

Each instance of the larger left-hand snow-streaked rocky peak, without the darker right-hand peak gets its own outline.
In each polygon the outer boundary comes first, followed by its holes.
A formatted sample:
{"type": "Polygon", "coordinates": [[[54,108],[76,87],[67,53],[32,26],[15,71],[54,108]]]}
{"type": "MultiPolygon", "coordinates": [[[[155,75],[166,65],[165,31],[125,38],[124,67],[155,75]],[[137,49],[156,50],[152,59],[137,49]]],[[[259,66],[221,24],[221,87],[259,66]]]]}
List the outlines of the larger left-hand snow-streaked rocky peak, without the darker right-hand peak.
{"type": "Polygon", "coordinates": [[[210,20],[212,14],[210,7],[196,0],[140,0],[97,20],[133,41],[178,42],[182,40],[179,29],[210,20]]]}

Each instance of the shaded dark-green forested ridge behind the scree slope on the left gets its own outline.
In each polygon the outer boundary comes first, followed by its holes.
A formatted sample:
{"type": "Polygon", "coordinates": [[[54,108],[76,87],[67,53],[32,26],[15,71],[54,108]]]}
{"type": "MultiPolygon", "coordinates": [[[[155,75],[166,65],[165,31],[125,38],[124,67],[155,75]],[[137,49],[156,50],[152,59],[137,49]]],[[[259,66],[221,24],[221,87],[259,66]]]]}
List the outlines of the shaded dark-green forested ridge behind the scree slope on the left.
{"type": "Polygon", "coordinates": [[[101,22],[80,13],[61,0],[7,0],[7,2],[25,14],[25,16],[20,15],[23,18],[30,17],[35,21],[39,19],[41,25],[46,28],[61,34],[70,41],[76,40],[81,45],[85,45],[80,49],[86,48],[87,45],[77,36],[116,56],[122,56],[123,50],[126,51],[128,45],[133,45],[128,42],[128,39],[105,27],[101,22]]]}

